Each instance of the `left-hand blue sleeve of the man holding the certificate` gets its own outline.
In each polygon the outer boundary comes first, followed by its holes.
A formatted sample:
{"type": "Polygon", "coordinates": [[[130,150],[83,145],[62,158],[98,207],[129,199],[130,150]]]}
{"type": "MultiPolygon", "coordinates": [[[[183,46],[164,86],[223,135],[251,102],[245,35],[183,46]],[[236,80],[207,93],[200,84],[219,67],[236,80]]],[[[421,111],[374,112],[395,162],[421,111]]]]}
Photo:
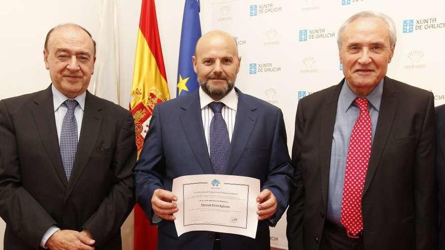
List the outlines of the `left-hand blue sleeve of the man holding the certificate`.
{"type": "Polygon", "coordinates": [[[163,188],[164,168],[160,114],[155,107],[135,170],[136,201],[152,223],[156,222],[153,221],[151,197],[156,189],[163,188]]]}

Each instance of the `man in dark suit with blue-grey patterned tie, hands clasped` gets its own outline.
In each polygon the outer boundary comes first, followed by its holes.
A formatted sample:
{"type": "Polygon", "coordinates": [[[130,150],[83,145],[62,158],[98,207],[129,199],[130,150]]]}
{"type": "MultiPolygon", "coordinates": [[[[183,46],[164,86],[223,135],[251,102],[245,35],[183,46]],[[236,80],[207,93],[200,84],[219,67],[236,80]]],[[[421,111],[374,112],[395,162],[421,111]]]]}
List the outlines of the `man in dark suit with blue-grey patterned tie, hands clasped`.
{"type": "Polygon", "coordinates": [[[52,84],[0,101],[0,215],[5,249],[121,249],[134,205],[131,114],[86,90],[91,34],[75,24],[47,35],[52,84]]]}

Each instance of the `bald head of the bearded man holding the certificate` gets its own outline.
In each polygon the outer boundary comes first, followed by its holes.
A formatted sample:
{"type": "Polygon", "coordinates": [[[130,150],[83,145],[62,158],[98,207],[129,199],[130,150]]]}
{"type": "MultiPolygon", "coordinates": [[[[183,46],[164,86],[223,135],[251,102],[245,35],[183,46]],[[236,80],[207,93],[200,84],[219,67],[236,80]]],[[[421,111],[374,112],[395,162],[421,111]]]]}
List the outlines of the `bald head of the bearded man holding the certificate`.
{"type": "Polygon", "coordinates": [[[221,30],[204,34],[196,43],[192,60],[199,85],[215,101],[233,89],[241,57],[231,34],[221,30]]]}

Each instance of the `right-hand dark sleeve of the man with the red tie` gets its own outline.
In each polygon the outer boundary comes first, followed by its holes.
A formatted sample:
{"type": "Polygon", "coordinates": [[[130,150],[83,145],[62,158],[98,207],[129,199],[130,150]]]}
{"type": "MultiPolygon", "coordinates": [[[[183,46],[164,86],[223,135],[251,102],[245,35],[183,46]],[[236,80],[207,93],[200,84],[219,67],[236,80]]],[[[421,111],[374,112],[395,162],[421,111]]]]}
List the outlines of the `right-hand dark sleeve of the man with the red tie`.
{"type": "Polygon", "coordinates": [[[436,245],[437,192],[434,159],[434,97],[430,92],[415,156],[414,202],[418,250],[435,249],[436,245]]]}

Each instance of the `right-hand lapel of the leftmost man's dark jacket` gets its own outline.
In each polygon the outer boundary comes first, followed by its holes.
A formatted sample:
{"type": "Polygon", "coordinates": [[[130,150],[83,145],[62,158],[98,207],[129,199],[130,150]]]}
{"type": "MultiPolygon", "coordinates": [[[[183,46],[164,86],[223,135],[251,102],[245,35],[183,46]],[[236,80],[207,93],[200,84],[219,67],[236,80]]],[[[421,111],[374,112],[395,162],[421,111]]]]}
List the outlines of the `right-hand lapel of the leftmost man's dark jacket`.
{"type": "Polygon", "coordinates": [[[98,98],[87,91],[82,127],[80,130],[79,142],[77,143],[76,156],[74,158],[73,172],[71,173],[71,178],[68,182],[68,190],[65,193],[65,197],[68,197],[71,193],[91,157],[100,133],[102,116],[102,106],[98,102],[98,98]]]}

